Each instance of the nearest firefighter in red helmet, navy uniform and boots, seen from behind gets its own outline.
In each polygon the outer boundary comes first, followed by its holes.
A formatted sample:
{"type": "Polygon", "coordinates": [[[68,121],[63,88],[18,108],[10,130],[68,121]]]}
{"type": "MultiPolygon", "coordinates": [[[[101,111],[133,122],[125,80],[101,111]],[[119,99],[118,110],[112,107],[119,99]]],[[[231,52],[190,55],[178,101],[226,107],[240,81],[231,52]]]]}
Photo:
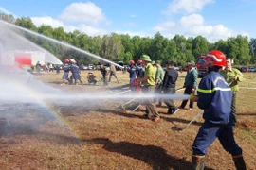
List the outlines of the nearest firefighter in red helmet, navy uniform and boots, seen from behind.
{"type": "Polygon", "coordinates": [[[207,148],[218,138],[223,148],[232,155],[236,169],[245,170],[247,168],[242,149],[234,140],[231,124],[232,91],[219,73],[226,65],[226,57],[221,51],[212,50],[205,59],[209,74],[202,78],[197,90],[198,96],[191,97],[193,101],[197,101],[197,106],[204,110],[205,119],[192,144],[192,169],[204,169],[207,148]]]}

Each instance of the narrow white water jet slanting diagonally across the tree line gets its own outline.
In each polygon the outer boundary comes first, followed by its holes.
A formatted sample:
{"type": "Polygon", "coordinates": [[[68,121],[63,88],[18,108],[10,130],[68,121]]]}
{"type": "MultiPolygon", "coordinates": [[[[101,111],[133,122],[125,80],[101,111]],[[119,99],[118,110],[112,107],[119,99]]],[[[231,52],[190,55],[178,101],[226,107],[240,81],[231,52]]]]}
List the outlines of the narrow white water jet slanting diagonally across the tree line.
{"type": "Polygon", "coordinates": [[[27,33],[30,33],[30,34],[32,34],[32,35],[35,35],[35,36],[41,37],[41,38],[43,38],[43,39],[46,39],[47,41],[55,42],[55,43],[64,45],[64,46],[66,46],[66,47],[69,47],[69,48],[71,48],[71,49],[74,49],[74,50],[76,50],[76,51],[79,51],[79,52],[81,52],[82,54],[85,54],[85,55],[87,55],[87,56],[90,56],[90,57],[93,57],[93,58],[96,58],[96,59],[100,59],[100,60],[102,60],[102,61],[105,61],[105,62],[111,63],[111,64],[113,64],[113,65],[116,65],[116,66],[118,66],[118,67],[121,68],[121,69],[124,68],[123,66],[121,66],[121,65],[119,65],[119,64],[117,64],[117,63],[115,63],[115,62],[113,62],[113,61],[111,61],[111,60],[101,58],[100,56],[97,56],[97,55],[95,55],[95,54],[92,54],[92,53],[89,53],[89,52],[87,52],[87,51],[84,51],[84,50],[82,50],[82,49],[80,49],[80,48],[78,48],[78,47],[75,47],[75,46],[73,46],[73,45],[70,45],[70,44],[67,44],[67,43],[64,43],[64,42],[59,42],[59,41],[57,41],[57,40],[55,40],[55,39],[46,37],[46,36],[44,36],[44,35],[42,35],[42,34],[36,33],[36,32],[34,32],[34,31],[31,31],[31,30],[28,30],[27,28],[24,28],[24,27],[21,27],[21,26],[16,26],[16,25],[10,24],[10,23],[8,23],[8,22],[5,22],[5,21],[3,21],[3,20],[0,20],[0,23],[5,24],[5,25],[7,25],[7,26],[15,27],[15,28],[20,29],[20,30],[23,30],[23,31],[25,31],[25,32],[27,32],[27,33]]]}

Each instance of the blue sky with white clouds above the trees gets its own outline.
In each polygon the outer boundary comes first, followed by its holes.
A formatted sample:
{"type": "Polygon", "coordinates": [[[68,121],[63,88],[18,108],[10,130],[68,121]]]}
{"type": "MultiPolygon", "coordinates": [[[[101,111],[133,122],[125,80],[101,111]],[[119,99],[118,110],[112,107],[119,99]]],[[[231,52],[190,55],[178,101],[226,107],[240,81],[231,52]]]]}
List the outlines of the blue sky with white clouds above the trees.
{"type": "Polygon", "coordinates": [[[256,0],[1,0],[0,12],[30,17],[36,26],[63,26],[90,35],[112,32],[154,37],[160,32],[209,42],[256,38],[256,0]]]}

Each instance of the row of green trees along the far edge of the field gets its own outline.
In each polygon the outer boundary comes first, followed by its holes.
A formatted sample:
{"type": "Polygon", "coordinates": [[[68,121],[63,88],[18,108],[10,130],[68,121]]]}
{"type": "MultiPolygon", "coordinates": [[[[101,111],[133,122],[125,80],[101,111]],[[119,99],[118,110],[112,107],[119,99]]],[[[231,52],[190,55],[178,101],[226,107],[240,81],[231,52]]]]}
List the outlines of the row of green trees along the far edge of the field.
{"type": "MultiPolygon", "coordinates": [[[[194,38],[175,35],[173,39],[169,39],[159,32],[155,33],[152,38],[131,37],[128,34],[117,33],[92,37],[79,30],[65,32],[63,27],[53,28],[47,25],[37,27],[29,17],[14,18],[12,15],[2,13],[0,19],[112,61],[128,63],[130,59],[137,61],[141,55],[147,54],[152,60],[163,62],[173,60],[175,63],[184,66],[187,61],[195,60],[198,56],[207,54],[211,49],[218,49],[234,59],[236,65],[256,63],[256,39],[248,40],[247,36],[242,35],[229,37],[227,40],[219,40],[218,42],[209,42],[200,35],[194,38]]],[[[65,58],[73,58],[81,64],[99,62],[99,59],[93,59],[64,45],[43,40],[26,32],[23,32],[23,34],[28,40],[45,48],[62,61],[65,58]]]]}

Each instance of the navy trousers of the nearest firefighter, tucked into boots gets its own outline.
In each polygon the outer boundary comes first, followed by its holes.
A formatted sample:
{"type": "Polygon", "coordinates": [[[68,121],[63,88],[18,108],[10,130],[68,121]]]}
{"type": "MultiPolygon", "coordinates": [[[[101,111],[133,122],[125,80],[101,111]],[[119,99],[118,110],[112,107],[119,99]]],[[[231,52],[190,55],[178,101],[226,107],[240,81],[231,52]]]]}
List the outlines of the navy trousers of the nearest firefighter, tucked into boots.
{"type": "Polygon", "coordinates": [[[193,155],[206,155],[207,148],[218,138],[223,148],[231,155],[242,154],[242,149],[235,143],[232,125],[214,125],[204,122],[192,144],[193,155]]]}

